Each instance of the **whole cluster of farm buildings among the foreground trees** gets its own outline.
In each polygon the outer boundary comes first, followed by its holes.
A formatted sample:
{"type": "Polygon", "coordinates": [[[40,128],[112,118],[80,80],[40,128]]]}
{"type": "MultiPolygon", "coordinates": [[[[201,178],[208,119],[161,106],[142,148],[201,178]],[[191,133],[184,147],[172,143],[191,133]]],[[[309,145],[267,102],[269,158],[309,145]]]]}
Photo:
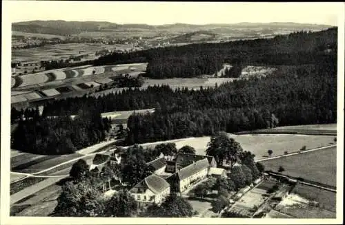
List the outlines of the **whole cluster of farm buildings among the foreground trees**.
{"type": "MultiPolygon", "coordinates": [[[[110,160],[121,162],[118,154],[97,154],[90,169],[97,168],[99,171],[110,160]]],[[[153,173],[141,182],[132,186],[130,195],[142,205],[161,204],[170,192],[183,193],[205,180],[208,176],[226,177],[226,170],[217,168],[215,158],[212,156],[200,156],[190,153],[178,153],[173,160],[158,158],[148,162],[154,169],[153,173]]],[[[104,190],[108,191],[110,185],[104,190]]]]}

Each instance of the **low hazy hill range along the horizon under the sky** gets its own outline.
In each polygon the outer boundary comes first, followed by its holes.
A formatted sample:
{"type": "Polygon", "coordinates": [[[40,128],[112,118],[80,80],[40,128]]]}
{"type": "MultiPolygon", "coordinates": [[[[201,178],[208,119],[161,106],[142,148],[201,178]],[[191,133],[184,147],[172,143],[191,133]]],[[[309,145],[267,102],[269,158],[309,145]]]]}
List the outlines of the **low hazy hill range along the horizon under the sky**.
{"type": "Polygon", "coordinates": [[[199,30],[216,30],[218,32],[230,32],[233,29],[257,29],[275,30],[324,30],[331,28],[330,25],[304,24],[304,23],[234,23],[234,24],[206,24],[195,25],[175,23],[166,25],[148,24],[117,24],[106,21],[25,21],[12,23],[12,31],[70,35],[81,32],[118,32],[118,31],[159,31],[159,32],[195,32],[199,30]]]}

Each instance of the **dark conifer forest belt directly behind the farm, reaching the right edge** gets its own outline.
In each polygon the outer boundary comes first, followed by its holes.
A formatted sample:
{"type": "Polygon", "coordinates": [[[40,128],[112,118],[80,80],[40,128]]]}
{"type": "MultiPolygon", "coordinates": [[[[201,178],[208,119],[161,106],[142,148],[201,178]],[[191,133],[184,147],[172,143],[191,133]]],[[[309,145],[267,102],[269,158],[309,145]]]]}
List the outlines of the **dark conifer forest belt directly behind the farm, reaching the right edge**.
{"type": "Polygon", "coordinates": [[[128,144],[213,135],[220,130],[336,122],[336,71],[336,63],[329,61],[285,69],[284,76],[251,78],[197,91],[164,85],[99,98],[67,98],[46,105],[43,116],[94,108],[106,112],[155,107],[155,114],[130,116],[128,144]]]}

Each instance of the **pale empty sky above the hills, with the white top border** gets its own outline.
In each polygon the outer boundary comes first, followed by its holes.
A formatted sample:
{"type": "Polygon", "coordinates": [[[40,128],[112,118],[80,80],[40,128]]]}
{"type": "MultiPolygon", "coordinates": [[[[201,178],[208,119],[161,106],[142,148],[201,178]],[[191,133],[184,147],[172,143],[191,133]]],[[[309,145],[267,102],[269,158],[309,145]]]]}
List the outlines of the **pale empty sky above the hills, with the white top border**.
{"type": "Polygon", "coordinates": [[[3,1],[13,22],[32,20],[112,23],[295,22],[337,25],[344,3],[3,1]]]}

